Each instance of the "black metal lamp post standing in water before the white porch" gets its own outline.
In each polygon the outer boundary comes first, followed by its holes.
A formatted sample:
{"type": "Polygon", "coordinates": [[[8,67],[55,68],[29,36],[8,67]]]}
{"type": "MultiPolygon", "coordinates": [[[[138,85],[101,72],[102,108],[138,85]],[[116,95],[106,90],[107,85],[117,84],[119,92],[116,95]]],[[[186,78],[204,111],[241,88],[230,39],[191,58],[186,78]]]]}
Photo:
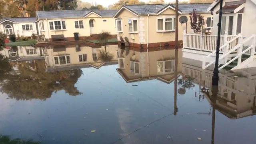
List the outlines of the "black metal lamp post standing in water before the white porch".
{"type": "Polygon", "coordinates": [[[216,46],[216,59],[215,66],[212,76],[212,85],[218,85],[219,83],[219,54],[220,54],[220,34],[221,34],[221,20],[222,20],[222,4],[223,0],[220,0],[220,10],[219,10],[219,23],[218,23],[218,37],[216,46]]]}

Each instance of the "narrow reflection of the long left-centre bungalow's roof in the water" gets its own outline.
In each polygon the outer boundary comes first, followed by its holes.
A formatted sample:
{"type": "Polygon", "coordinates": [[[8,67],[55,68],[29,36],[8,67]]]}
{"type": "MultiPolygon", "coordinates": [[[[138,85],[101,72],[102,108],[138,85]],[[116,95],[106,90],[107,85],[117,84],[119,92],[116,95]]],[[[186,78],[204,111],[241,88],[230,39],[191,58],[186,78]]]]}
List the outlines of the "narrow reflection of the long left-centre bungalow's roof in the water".
{"type": "Polygon", "coordinates": [[[69,66],[56,66],[56,67],[48,67],[45,69],[45,72],[57,72],[57,71],[64,71],[64,70],[75,70],[81,68],[96,68],[99,69],[102,66],[114,65],[118,64],[118,61],[111,61],[111,62],[104,62],[100,66],[96,67],[93,64],[74,64],[69,66]]]}

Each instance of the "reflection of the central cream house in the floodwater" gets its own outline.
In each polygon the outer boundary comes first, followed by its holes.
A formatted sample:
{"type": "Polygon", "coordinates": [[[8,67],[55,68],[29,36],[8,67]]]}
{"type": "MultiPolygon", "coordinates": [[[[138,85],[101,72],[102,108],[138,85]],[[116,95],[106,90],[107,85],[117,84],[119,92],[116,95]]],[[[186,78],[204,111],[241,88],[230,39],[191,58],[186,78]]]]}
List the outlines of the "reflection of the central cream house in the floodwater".
{"type": "MultiPolygon", "coordinates": [[[[174,80],[175,50],[165,48],[150,48],[151,52],[130,50],[125,53],[121,50],[117,71],[126,82],[157,79],[166,83],[174,80]],[[125,53],[125,54],[124,54],[125,53]]],[[[178,49],[178,73],[182,72],[182,51],[178,49]]]]}

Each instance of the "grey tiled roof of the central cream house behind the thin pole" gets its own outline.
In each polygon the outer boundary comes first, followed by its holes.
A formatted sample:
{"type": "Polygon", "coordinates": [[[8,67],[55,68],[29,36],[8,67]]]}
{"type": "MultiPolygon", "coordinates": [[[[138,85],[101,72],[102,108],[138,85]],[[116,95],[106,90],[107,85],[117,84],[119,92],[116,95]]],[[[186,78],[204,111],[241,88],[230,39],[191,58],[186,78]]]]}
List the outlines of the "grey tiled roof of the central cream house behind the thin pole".
{"type": "MultiPolygon", "coordinates": [[[[136,14],[152,14],[160,12],[168,5],[175,8],[175,4],[124,5],[124,7],[132,10],[136,14]]],[[[211,4],[179,4],[179,10],[181,12],[193,12],[193,9],[196,9],[197,12],[206,12],[210,5],[211,4]]]]}

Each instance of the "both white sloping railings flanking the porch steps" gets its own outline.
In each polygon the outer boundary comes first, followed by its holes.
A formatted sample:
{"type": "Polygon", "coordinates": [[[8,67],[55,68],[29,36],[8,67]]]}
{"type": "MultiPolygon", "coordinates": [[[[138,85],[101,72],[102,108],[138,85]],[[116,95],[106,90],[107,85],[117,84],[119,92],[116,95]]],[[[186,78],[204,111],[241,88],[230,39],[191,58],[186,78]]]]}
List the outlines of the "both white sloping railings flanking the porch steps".
{"type": "MultiPolygon", "coordinates": [[[[240,35],[240,34],[239,34],[240,35]]],[[[224,68],[225,66],[227,66],[228,64],[230,64],[231,62],[233,62],[234,60],[238,59],[237,64],[241,64],[241,60],[242,60],[242,54],[250,54],[250,56],[253,56],[255,53],[255,47],[256,47],[256,34],[253,34],[250,38],[244,40],[244,42],[240,42],[239,44],[237,44],[236,46],[234,46],[233,48],[230,49],[230,44],[232,44],[232,42],[234,42],[236,39],[238,38],[238,36],[236,36],[235,38],[233,38],[232,40],[228,41],[226,44],[224,44],[222,47],[220,47],[220,49],[224,48],[224,54],[222,56],[220,56],[219,61],[221,61],[222,59],[224,59],[224,65],[221,66],[219,68],[219,70],[221,70],[222,68],[224,68]],[[228,61],[228,55],[232,52],[237,52],[237,56],[232,58],[230,61],[228,61]]],[[[213,54],[215,54],[216,51],[212,52],[211,54],[209,54],[208,56],[205,57],[203,63],[202,63],[202,68],[205,69],[208,66],[210,66],[211,64],[215,63],[215,60],[210,62],[208,65],[206,65],[206,59],[209,56],[212,56],[213,54]]],[[[221,62],[219,62],[219,65],[221,64],[221,62]]]]}

